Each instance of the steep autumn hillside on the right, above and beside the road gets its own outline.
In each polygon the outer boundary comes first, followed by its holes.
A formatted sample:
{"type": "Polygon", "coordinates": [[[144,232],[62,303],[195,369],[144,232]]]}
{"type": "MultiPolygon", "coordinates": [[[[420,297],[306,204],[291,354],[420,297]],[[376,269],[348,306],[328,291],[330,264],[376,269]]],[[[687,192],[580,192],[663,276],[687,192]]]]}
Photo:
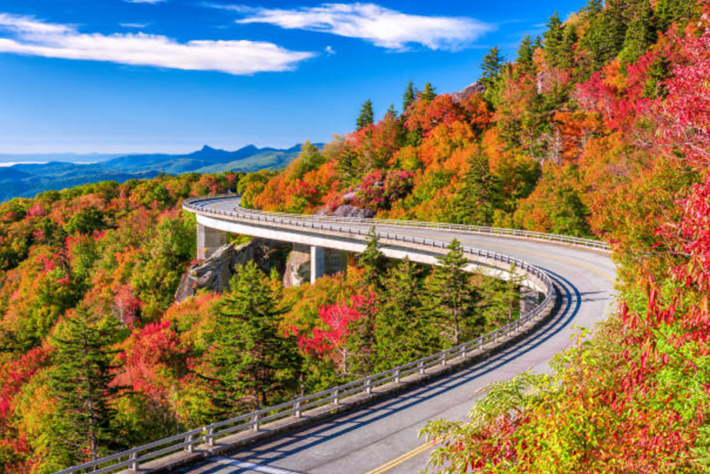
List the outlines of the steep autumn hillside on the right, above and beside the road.
{"type": "Polygon", "coordinates": [[[354,205],[613,245],[618,313],[555,375],[496,387],[471,424],[431,424],[432,472],[710,470],[709,14],[590,0],[515,58],[493,48],[467,90],[410,85],[378,122],[368,101],[352,134],[250,178],[246,203],[267,210],[354,205]]]}

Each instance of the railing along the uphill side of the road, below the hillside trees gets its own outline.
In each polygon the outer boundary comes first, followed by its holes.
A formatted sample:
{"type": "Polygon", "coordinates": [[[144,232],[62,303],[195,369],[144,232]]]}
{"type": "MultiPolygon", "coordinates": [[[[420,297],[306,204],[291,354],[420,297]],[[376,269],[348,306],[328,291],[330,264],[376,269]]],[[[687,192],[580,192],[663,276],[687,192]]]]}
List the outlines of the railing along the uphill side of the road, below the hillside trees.
{"type": "MultiPolygon", "coordinates": [[[[199,203],[209,203],[210,201],[220,199],[234,199],[238,195],[214,195],[207,198],[190,198],[185,200],[187,205],[197,205],[199,203]]],[[[450,230],[455,232],[465,232],[470,234],[483,235],[501,235],[503,237],[513,237],[527,240],[540,240],[544,242],[555,242],[558,244],[567,244],[572,247],[581,247],[586,249],[601,250],[603,252],[611,252],[611,247],[606,242],[595,239],[586,239],[584,237],[572,237],[570,235],[547,234],[545,232],[534,232],[531,230],[508,229],[504,227],[488,227],[485,225],[467,225],[467,224],[450,224],[447,222],[425,222],[420,220],[393,220],[393,219],[360,219],[357,217],[336,217],[329,215],[296,215],[288,212],[267,212],[262,210],[252,210],[236,206],[237,210],[251,212],[253,214],[271,215],[274,217],[290,217],[300,220],[312,220],[317,222],[343,222],[352,225],[383,225],[397,227],[413,227],[422,229],[437,229],[450,230]]]]}

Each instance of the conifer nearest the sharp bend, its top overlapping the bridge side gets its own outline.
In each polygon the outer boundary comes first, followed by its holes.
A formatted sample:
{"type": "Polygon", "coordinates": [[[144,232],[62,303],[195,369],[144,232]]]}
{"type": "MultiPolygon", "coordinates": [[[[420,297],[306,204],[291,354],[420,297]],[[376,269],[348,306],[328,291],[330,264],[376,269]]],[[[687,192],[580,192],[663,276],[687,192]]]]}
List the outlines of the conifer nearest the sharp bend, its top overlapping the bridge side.
{"type": "Polygon", "coordinates": [[[480,324],[474,307],[476,290],[464,270],[469,261],[457,239],[447,249],[449,252],[437,258],[439,265],[425,281],[422,302],[437,321],[444,345],[451,347],[480,333],[480,324]]]}

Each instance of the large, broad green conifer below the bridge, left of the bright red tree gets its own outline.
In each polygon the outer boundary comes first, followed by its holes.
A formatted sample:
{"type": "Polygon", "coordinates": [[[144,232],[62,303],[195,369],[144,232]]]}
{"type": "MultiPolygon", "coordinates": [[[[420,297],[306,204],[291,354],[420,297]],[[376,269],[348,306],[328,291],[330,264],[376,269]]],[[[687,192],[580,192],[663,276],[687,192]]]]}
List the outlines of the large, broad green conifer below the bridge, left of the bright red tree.
{"type": "Polygon", "coordinates": [[[249,262],[232,277],[219,305],[200,375],[212,382],[215,415],[261,409],[295,392],[299,360],[282,338],[269,279],[249,262]]]}

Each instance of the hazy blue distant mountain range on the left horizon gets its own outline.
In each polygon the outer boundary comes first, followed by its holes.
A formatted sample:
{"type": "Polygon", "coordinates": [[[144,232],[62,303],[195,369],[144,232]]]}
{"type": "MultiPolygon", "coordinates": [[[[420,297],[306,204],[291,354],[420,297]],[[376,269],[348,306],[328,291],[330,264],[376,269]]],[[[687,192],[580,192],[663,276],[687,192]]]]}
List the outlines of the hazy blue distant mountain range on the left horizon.
{"type": "MultiPolygon", "coordinates": [[[[317,144],[319,148],[322,145],[317,144]]],[[[89,153],[48,153],[32,155],[0,154],[0,201],[11,198],[31,198],[46,190],[61,190],[97,181],[128,181],[132,178],[153,178],[158,173],[220,173],[222,171],[258,171],[264,168],[285,168],[301,150],[244,146],[236,151],[211,148],[187,154],[107,155],[89,153]],[[43,163],[47,161],[47,163],[43,163]]]]}

